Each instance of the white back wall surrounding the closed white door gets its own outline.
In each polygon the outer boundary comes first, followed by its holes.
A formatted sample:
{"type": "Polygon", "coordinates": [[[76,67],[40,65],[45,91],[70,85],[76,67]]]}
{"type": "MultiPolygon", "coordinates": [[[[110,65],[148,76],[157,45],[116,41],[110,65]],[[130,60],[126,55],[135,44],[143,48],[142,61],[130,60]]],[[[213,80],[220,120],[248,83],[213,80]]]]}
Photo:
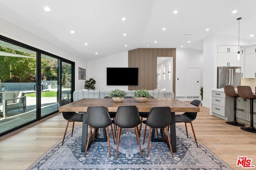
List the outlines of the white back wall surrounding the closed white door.
{"type": "MultiPolygon", "coordinates": [[[[188,67],[200,68],[200,86],[203,86],[203,52],[187,48],[176,49],[176,96],[186,95],[186,68],[188,67]]],[[[200,93],[200,89],[197,93],[200,93]]]]}

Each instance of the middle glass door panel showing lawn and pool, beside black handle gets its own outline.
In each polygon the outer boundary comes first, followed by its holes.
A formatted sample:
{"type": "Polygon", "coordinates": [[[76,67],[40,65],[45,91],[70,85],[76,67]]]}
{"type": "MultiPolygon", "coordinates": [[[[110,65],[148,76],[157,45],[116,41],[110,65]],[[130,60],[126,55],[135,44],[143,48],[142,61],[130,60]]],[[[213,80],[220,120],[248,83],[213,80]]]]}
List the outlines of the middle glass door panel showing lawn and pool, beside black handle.
{"type": "Polygon", "coordinates": [[[41,117],[58,111],[58,63],[48,55],[41,55],[41,117]]]}

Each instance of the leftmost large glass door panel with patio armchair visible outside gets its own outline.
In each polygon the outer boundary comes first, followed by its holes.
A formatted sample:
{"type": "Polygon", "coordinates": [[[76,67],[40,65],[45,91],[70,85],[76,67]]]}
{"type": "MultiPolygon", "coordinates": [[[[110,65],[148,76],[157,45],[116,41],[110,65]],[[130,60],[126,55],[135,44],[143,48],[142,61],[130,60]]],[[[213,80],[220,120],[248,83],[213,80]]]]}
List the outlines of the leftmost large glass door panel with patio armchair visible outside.
{"type": "Polygon", "coordinates": [[[0,134],[36,120],[36,54],[0,41],[0,134]]]}

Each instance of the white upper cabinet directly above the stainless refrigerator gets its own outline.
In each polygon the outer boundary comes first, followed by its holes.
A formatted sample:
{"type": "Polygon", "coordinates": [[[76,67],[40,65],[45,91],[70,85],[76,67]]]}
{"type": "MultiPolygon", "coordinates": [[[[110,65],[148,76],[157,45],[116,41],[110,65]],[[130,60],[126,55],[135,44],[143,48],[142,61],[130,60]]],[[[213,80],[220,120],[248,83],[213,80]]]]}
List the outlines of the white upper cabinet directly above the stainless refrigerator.
{"type": "MultiPolygon", "coordinates": [[[[218,46],[217,66],[241,66],[237,60],[238,46],[218,46]]],[[[244,51],[240,51],[243,53],[244,51]]]]}

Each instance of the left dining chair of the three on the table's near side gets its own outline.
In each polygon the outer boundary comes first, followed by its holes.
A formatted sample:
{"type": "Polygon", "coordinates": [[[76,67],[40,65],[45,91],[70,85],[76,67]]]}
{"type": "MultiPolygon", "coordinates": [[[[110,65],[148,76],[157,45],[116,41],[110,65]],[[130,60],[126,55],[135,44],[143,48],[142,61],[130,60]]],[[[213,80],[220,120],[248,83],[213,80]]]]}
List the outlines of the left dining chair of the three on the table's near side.
{"type": "Polygon", "coordinates": [[[105,129],[107,129],[108,153],[109,153],[109,157],[111,157],[109,132],[108,132],[108,126],[110,126],[110,125],[111,125],[111,131],[112,131],[112,135],[113,135],[114,144],[116,144],[114,133],[113,133],[113,128],[112,128],[112,123],[113,122],[110,118],[110,115],[109,115],[108,110],[106,109],[106,107],[93,106],[93,107],[88,107],[87,108],[86,124],[90,126],[90,132],[88,134],[88,139],[87,139],[87,144],[86,144],[86,149],[85,149],[84,156],[86,156],[86,152],[87,152],[88,147],[89,147],[89,141],[90,141],[90,136],[91,136],[91,133],[92,133],[92,128],[94,128],[92,143],[94,143],[96,129],[105,128],[105,129]]]}

